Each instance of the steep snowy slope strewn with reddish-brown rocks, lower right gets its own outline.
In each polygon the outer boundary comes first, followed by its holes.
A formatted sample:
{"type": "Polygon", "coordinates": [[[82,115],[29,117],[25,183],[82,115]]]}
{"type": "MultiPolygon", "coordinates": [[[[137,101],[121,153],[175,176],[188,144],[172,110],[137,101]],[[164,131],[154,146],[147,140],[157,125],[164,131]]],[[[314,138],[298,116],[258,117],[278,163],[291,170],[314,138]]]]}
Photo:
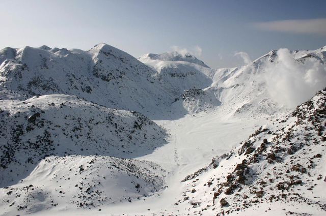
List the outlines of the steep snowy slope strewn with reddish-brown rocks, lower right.
{"type": "Polygon", "coordinates": [[[322,215],[326,211],[325,127],[326,88],[187,176],[184,197],[176,205],[201,215],[322,215]]]}

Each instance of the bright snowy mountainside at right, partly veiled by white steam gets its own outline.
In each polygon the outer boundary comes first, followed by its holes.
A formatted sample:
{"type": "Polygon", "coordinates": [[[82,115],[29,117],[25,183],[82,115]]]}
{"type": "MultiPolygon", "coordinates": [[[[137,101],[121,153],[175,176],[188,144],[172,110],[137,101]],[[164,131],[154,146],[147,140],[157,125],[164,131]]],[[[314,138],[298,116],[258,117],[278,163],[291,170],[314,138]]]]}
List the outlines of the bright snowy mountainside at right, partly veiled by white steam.
{"type": "Polygon", "coordinates": [[[222,102],[221,112],[259,117],[289,112],[326,84],[326,46],[315,51],[273,50],[253,63],[216,69],[205,89],[222,102]]]}

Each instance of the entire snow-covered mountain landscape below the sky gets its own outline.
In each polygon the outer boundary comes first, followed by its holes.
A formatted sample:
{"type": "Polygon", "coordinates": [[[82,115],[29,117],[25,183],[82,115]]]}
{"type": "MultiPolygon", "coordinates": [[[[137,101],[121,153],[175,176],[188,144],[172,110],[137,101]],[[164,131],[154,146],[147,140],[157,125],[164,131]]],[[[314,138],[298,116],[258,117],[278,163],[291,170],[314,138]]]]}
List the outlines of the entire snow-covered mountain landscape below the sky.
{"type": "Polygon", "coordinates": [[[211,69],[0,51],[0,215],[324,215],[326,46],[211,69]]]}

